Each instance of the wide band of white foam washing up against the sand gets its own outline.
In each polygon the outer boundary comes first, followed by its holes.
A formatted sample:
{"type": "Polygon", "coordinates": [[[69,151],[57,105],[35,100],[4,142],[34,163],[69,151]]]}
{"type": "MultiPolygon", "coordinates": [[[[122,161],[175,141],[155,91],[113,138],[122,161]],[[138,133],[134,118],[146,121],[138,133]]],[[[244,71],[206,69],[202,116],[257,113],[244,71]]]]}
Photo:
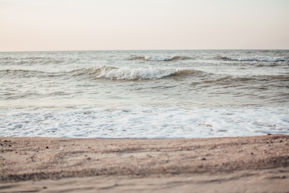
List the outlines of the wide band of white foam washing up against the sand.
{"type": "Polygon", "coordinates": [[[289,134],[288,108],[1,110],[0,136],[207,138],[289,134]]]}

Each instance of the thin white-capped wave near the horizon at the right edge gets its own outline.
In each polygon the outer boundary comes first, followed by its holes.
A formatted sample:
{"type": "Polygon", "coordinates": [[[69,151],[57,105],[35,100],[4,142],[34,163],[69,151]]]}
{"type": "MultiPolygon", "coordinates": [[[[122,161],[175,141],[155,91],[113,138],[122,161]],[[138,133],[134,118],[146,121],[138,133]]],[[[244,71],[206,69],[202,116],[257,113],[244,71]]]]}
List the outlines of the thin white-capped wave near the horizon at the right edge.
{"type": "Polygon", "coordinates": [[[217,59],[235,61],[289,62],[289,58],[284,56],[217,56],[217,59]]]}

